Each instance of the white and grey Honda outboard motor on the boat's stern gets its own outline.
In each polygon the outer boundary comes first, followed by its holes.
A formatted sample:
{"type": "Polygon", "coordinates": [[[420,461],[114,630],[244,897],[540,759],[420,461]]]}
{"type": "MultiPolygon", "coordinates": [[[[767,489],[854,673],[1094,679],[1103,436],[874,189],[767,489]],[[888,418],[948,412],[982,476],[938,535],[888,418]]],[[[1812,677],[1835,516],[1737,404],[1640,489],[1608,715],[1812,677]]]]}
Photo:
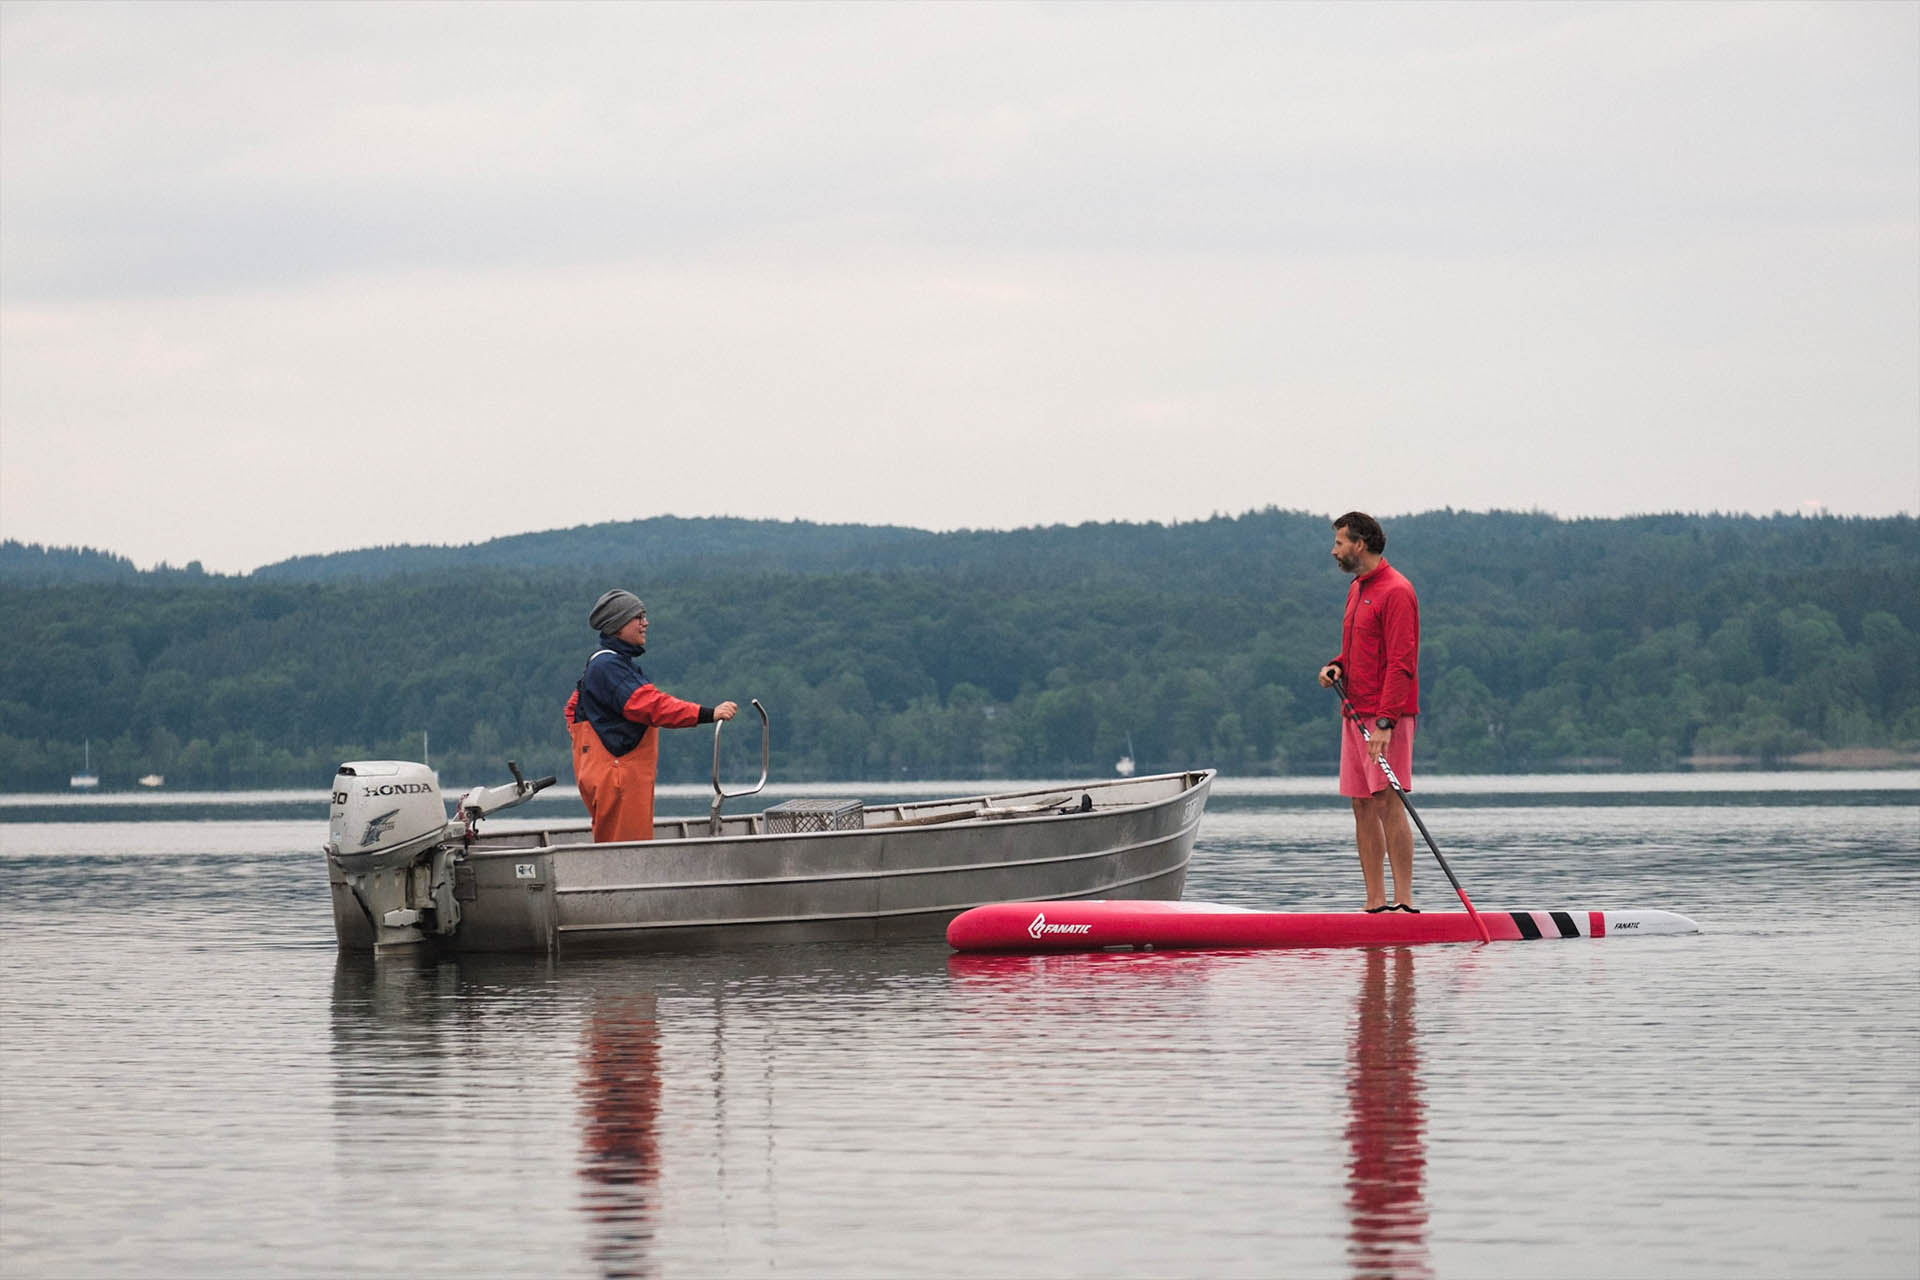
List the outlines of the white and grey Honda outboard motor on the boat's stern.
{"type": "MultiPolygon", "coordinates": [[[[326,812],[326,862],[334,892],[346,890],[372,931],[372,944],[397,946],[445,936],[459,929],[461,904],[453,894],[453,867],[467,848],[472,823],[503,810],[555,779],[520,777],[474,787],[461,796],[449,819],[440,798],[440,779],[411,760],[349,760],[334,773],[326,812]]],[[[338,900],[338,898],[336,898],[338,900]]],[[[351,908],[344,908],[349,910],[351,908]]],[[[346,942],[344,923],[342,942],[346,942]]]]}

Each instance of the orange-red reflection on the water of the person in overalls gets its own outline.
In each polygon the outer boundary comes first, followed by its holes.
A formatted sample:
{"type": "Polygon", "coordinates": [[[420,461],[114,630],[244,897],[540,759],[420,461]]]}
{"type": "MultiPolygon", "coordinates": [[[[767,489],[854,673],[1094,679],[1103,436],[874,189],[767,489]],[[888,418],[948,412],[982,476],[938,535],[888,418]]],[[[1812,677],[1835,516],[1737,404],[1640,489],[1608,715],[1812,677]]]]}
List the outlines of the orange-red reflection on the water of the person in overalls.
{"type": "Polygon", "coordinates": [[[660,1184],[660,1015],[651,994],[597,1002],[580,1054],[580,1176],[603,1276],[651,1276],[660,1184]]]}

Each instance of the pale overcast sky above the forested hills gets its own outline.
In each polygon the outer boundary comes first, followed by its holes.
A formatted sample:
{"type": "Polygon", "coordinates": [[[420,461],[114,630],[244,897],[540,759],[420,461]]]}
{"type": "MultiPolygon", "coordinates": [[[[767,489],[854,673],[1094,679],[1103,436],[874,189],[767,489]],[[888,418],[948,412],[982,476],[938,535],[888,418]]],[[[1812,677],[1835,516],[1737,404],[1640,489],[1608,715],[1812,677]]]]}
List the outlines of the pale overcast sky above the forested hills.
{"type": "Polygon", "coordinates": [[[1920,6],[0,6],[0,535],[1267,505],[1920,510],[1920,6]]]}

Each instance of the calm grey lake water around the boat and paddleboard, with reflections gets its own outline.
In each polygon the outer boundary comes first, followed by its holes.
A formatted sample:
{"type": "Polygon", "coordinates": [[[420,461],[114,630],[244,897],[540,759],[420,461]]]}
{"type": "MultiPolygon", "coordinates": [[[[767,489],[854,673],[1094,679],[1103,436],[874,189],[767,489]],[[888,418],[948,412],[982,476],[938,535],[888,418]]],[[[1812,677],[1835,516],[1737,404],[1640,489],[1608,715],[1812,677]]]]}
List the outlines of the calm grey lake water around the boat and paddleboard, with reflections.
{"type": "MultiPolygon", "coordinates": [[[[1357,906],[1327,793],[1223,781],[1187,896],[1357,906]]],[[[321,791],[4,796],[0,1274],[1920,1274],[1920,773],[1415,802],[1707,933],[376,963],[321,791]]]]}

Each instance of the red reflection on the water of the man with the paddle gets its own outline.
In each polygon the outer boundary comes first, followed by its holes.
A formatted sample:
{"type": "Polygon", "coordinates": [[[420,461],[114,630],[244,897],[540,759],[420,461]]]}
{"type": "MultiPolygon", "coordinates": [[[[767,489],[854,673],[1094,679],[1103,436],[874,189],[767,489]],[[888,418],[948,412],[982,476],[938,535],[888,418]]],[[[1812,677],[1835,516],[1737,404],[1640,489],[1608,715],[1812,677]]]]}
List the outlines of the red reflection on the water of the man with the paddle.
{"type": "Polygon", "coordinates": [[[1432,1261],[1413,950],[1369,948],[1365,958],[1346,1055],[1346,1251],[1357,1280],[1425,1280],[1432,1261]]]}

